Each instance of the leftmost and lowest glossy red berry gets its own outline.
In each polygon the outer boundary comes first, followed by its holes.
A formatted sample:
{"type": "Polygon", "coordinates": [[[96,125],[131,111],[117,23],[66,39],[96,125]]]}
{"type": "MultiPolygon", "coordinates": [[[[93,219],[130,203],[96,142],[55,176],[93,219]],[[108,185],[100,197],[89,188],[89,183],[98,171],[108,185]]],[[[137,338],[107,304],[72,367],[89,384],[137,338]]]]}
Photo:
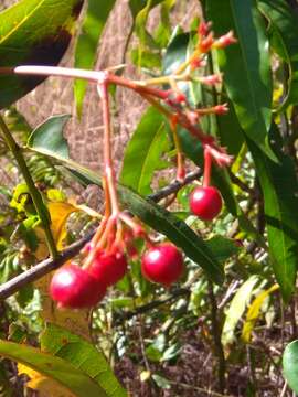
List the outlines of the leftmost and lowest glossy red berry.
{"type": "Polygon", "coordinates": [[[50,294],[60,307],[92,308],[106,293],[106,286],[74,264],[58,269],[51,281],[50,294]]]}

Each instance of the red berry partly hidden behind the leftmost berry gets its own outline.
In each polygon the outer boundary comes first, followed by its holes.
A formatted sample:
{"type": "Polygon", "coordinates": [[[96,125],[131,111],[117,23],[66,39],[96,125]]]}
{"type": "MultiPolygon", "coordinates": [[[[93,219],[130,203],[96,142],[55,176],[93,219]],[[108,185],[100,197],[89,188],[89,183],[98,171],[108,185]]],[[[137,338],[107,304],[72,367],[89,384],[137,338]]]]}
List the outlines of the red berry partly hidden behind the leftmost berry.
{"type": "Polygon", "coordinates": [[[124,278],[127,271],[127,260],[123,253],[99,253],[91,267],[89,275],[107,287],[115,285],[124,278]]]}

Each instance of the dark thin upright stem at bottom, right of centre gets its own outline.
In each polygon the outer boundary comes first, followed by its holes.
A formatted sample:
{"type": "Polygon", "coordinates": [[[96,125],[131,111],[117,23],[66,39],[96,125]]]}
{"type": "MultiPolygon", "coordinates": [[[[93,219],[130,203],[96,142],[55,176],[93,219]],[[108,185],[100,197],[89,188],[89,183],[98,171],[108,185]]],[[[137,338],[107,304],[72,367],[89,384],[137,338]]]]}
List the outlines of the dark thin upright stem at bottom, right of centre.
{"type": "Polygon", "coordinates": [[[209,280],[209,299],[211,302],[211,324],[212,324],[212,334],[214,341],[214,351],[217,356],[217,375],[219,375],[219,387],[220,391],[224,394],[225,390],[225,357],[223,345],[221,341],[221,328],[217,321],[217,303],[213,292],[213,282],[209,280]]]}

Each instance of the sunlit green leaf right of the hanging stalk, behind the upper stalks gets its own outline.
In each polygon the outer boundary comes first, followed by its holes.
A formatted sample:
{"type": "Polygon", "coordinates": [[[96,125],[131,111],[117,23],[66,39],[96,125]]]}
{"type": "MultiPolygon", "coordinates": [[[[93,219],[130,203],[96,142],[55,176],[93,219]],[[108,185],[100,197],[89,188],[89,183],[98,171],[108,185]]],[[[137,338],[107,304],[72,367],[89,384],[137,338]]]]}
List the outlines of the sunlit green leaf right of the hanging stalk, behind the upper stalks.
{"type": "Polygon", "coordinates": [[[162,115],[155,108],[149,108],[126,148],[120,183],[141,195],[150,194],[150,184],[155,171],[160,168],[167,142],[162,115]]]}

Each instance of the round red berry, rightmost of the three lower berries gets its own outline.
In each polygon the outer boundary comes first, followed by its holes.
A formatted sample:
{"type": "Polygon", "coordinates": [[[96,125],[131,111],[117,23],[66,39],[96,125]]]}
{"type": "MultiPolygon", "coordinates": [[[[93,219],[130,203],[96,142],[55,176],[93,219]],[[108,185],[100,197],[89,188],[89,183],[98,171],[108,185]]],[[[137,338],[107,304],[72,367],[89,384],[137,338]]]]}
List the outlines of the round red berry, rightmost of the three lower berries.
{"type": "Polygon", "coordinates": [[[170,243],[149,248],[141,259],[143,277],[166,287],[175,282],[181,277],[183,269],[182,254],[170,243]]]}

